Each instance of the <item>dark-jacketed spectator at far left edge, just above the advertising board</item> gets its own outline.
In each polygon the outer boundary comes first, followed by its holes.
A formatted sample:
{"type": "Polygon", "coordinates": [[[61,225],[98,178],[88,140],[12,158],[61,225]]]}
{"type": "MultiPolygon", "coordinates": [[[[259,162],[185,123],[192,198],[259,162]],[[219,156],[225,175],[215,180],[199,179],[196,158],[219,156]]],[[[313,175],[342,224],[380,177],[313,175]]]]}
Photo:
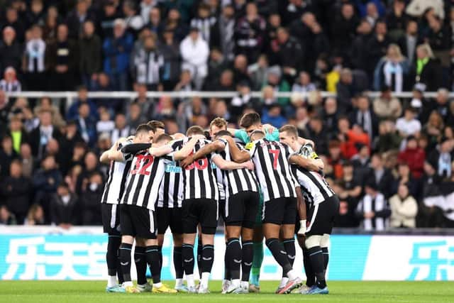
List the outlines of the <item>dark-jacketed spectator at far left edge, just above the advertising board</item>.
{"type": "Polygon", "coordinates": [[[1,182],[1,195],[18,224],[23,224],[26,219],[32,189],[31,180],[22,174],[21,160],[13,160],[9,167],[9,177],[1,182]]]}

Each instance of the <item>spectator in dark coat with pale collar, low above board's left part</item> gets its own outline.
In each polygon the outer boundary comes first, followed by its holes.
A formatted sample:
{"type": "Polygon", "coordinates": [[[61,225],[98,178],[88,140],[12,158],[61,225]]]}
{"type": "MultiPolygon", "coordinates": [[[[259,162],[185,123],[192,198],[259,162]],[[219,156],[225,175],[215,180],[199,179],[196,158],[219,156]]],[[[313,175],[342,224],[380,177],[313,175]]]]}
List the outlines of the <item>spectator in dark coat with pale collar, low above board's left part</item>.
{"type": "Polygon", "coordinates": [[[77,224],[79,216],[77,196],[70,192],[66,182],[58,185],[57,193],[50,202],[50,223],[68,229],[77,224]]]}

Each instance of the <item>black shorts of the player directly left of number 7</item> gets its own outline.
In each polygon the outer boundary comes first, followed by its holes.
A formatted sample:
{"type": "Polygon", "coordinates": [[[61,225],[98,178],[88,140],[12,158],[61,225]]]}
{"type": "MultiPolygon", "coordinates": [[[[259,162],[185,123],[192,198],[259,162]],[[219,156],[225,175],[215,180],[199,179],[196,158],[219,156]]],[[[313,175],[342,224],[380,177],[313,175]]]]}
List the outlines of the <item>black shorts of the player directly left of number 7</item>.
{"type": "Polygon", "coordinates": [[[238,192],[228,197],[225,206],[226,226],[254,228],[260,196],[258,192],[238,192]]]}

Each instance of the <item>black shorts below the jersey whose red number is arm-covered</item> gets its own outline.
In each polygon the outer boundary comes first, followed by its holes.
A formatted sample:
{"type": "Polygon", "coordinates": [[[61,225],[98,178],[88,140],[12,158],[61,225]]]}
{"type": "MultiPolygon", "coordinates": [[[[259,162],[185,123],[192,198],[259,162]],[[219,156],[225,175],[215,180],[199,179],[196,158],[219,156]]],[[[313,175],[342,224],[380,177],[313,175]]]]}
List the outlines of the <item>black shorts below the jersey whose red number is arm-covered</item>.
{"type": "Polygon", "coordinates": [[[187,199],[182,206],[183,233],[201,232],[214,235],[218,226],[218,203],[214,199],[187,199]]]}

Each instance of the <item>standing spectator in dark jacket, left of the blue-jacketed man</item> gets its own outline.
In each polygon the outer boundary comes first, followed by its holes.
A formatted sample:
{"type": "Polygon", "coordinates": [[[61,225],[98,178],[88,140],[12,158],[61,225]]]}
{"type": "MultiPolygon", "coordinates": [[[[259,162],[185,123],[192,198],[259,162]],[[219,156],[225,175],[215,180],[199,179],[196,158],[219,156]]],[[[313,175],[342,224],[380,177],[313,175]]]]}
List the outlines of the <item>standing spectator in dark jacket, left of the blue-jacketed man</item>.
{"type": "Polygon", "coordinates": [[[101,72],[101,39],[94,31],[93,21],[85,21],[79,38],[79,71],[82,83],[89,88],[101,72]]]}

